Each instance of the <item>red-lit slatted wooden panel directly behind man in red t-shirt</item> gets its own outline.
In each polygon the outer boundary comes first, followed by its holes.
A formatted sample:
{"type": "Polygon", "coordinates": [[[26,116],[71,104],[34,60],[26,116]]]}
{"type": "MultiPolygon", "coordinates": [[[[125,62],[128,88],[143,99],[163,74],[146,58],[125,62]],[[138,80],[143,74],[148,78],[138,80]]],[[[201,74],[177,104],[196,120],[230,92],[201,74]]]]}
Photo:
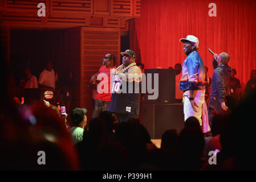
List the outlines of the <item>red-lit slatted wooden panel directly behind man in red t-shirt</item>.
{"type": "Polygon", "coordinates": [[[88,84],[91,76],[99,71],[106,53],[113,53],[120,62],[120,29],[82,27],[81,36],[81,100],[91,117],[94,108],[92,89],[88,84]]]}

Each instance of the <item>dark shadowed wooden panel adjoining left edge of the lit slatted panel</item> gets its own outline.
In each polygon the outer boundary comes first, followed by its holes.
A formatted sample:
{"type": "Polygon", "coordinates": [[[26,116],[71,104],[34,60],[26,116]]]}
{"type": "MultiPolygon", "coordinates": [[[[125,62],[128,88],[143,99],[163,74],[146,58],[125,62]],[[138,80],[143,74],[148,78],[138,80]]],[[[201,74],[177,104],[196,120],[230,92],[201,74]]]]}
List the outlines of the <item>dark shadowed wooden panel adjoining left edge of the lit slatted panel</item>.
{"type": "Polygon", "coordinates": [[[74,94],[72,96],[72,108],[81,107],[80,102],[80,59],[81,59],[81,49],[80,49],[80,27],[69,28],[63,32],[63,57],[62,57],[62,67],[63,69],[70,69],[73,73],[75,80],[74,94]]]}

